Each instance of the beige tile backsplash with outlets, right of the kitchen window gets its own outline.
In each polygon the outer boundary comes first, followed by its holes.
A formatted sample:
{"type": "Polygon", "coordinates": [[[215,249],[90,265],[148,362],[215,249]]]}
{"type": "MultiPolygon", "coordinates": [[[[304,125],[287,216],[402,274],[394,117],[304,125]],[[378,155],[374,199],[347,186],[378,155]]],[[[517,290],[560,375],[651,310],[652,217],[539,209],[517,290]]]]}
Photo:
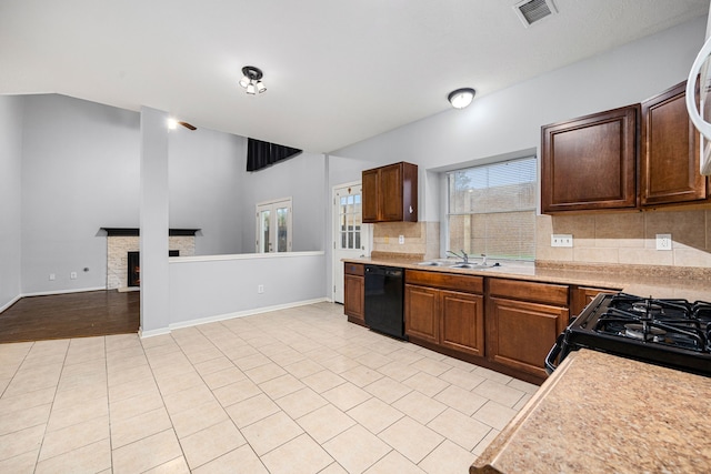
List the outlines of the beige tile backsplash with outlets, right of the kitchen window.
{"type": "Polygon", "coordinates": [[[535,231],[537,261],[711,268],[711,210],[539,215],[535,231]],[[551,248],[552,233],[573,248],[551,248]],[[658,233],[671,251],[655,250],[658,233]]]}

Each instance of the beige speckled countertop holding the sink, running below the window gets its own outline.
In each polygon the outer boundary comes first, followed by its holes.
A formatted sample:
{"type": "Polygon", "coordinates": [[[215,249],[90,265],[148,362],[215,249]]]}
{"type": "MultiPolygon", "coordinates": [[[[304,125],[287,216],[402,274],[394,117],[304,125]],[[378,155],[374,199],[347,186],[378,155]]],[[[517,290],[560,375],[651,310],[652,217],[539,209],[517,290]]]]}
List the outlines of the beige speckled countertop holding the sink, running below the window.
{"type": "MultiPolygon", "coordinates": [[[[474,262],[478,259],[472,259],[474,262]]],[[[495,262],[497,260],[491,260],[495,262]]],[[[581,286],[621,290],[629,294],[651,297],[678,297],[689,301],[711,301],[711,281],[682,278],[650,276],[620,271],[609,271],[604,266],[590,265],[587,270],[540,268],[527,262],[501,261],[501,266],[485,270],[450,269],[448,266],[419,265],[412,259],[343,259],[343,262],[401,266],[404,269],[432,272],[475,274],[543,283],[573,284],[581,286]]],[[[452,263],[454,261],[452,260],[452,263]]],[[[663,271],[663,270],[661,270],[663,271]]]]}

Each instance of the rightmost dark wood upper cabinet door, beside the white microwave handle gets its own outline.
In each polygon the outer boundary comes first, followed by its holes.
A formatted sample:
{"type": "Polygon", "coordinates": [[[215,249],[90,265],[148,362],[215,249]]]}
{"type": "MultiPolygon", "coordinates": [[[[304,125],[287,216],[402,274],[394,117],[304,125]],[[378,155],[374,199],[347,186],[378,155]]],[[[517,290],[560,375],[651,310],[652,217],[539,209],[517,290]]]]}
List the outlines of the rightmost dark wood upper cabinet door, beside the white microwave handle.
{"type": "Polygon", "coordinates": [[[704,200],[699,173],[699,133],[685,103],[687,82],[642,102],[641,203],[704,200]]]}

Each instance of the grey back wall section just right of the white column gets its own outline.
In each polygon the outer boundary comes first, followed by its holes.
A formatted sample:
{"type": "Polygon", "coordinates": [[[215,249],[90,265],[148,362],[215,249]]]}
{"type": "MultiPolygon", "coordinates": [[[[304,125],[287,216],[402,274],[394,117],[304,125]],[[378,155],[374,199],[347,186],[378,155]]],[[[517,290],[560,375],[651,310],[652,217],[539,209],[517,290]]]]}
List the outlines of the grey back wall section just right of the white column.
{"type": "MultiPolygon", "coordinates": [[[[197,255],[242,252],[247,139],[198,127],[170,131],[170,228],[202,229],[197,255]]],[[[250,239],[251,241],[251,239],[250,239]]]]}

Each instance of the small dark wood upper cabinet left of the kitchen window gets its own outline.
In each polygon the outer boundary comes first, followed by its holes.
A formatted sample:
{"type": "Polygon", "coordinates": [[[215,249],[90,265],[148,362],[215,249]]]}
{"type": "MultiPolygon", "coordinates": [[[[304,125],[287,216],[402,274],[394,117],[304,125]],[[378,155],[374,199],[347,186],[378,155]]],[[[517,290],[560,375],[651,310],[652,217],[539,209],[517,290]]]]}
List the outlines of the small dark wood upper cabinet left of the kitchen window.
{"type": "Polygon", "coordinates": [[[362,172],[363,222],[418,221],[418,167],[400,162],[362,172]]]}

